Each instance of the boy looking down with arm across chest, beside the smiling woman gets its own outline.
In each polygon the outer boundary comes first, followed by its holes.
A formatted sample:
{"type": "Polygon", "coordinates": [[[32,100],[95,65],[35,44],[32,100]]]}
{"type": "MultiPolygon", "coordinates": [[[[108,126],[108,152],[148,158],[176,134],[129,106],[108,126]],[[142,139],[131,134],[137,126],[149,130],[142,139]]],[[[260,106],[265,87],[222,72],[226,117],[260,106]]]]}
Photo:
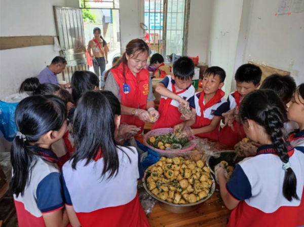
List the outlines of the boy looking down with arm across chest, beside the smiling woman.
{"type": "Polygon", "coordinates": [[[189,107],[186,100],[195,93],[195,88],[192,86],[193,77],[194,63],[190,58],[181,57],[174,62],[173,74],[167,75],[156,86],[156,92],[162,95],[159,106],[160,118],[151,130],[174,127],[183,122],[180,119],[181,113],[178,111],[178,106],[189,107]]]}

